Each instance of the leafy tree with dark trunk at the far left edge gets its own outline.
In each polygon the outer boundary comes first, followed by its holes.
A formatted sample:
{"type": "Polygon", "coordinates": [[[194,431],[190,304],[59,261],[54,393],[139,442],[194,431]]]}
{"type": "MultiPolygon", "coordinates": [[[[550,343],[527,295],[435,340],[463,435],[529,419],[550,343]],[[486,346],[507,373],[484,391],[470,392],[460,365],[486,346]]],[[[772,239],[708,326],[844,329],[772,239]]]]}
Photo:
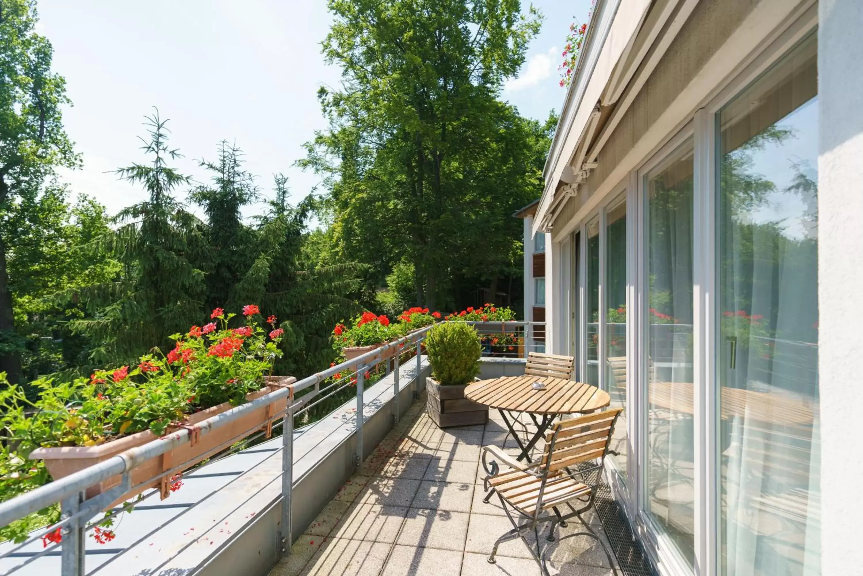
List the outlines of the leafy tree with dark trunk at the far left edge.
{"type": "MultiPolygon", "coordinates": [[[[79,158],[63,130],[66,80],[51,70],[51,43],[35,33],[33,0],[0,0],[0,221],[32,201],[57,166],[79,158]]],[[[21,347],[9,288],[9,231],[0,230],[0,371],[21,381],[21,347]]]]}

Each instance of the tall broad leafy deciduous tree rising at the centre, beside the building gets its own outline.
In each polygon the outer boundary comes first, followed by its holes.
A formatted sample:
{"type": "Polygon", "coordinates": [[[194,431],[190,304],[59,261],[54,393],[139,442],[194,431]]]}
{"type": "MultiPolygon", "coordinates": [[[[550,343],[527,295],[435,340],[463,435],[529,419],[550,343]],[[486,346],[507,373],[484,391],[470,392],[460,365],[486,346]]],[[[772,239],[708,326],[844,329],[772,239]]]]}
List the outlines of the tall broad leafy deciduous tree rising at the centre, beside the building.
{"type": "MultiPolygon", "coordinates": [[[[330,0],[329,8],[324,55],[343,67],[343,87],[319,92],[331,125],[301,165],[326,176],[340,255],[371,264],[378,285],[406,257],[415,301],[437,307],[453,300],[449,279],[466,267],[459,258],[488,254],[489,237],[511,247],[509,228],[497,227],[501,197],[520,206],[539,195],[520,181],[534,155],[513,156],[531,129],[497,96],[541,16],[532,7],[522,15],[514,0],[330,0]],[[470,244],[477,237],[483,243],[470,244]]],[[[503,251],[501,261],[511,260],[503,251]]],[[[501,262],[481,265],[494,282],[501,262]]]]}

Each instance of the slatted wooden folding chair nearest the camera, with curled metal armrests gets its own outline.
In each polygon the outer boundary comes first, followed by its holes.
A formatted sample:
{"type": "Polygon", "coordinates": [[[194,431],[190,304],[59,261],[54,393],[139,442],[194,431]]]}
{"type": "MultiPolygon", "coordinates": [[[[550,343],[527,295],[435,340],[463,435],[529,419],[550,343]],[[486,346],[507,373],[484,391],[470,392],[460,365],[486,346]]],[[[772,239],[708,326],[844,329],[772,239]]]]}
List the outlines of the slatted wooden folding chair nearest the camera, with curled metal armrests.
{"type": "Polygon", "coordinates": [[[558,537],[557,541],[574,536],[589,536],[595,539],[605,552],[615,576],[617,575],[608,548],[593,529],[590,529],[588,522],[584,522],[582,514],[594,506],[596,486],[602,478],[608,445],[621,411],[622,408],[614,408],[557,422],[552,432],[545,437],[542,459],[534,464],[516,461],[496,446],[483,447],[483,465],[492,472],[485,478],[485,484],[490,485],[501,498],[503,510],[513,523],[513,529],[494,542],[488,562],[494,564],[494,555],[501,543],[521,538],[543,574],[548,576],[545,553],[551,547],[551,542],[556,540],[557,525],[565,526],[565,522],[571,518],[578,518],[587,531],[558,537]],[[489,455],[494,460],[487,465],[486,459],[489,455]],[[497,460],[501,460],[511,470],[499,472],[497,460]],[[559,509],[564,506],[570,511],[562,514],[559,509]],[[548,535],[545,537],[548,543],[543,548],[539,532],[540,526],[546,522],[549,523],[548,535]],[[535,547],[526,539],[530,531],[533,531],[536,538],[535,547]]]}

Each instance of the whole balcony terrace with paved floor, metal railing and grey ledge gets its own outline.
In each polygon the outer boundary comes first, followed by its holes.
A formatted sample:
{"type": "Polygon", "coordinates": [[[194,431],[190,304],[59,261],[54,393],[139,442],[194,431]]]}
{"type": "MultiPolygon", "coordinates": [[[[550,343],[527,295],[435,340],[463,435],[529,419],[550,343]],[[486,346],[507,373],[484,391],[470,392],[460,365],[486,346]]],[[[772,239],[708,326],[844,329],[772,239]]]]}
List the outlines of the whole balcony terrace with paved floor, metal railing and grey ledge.
{"type": "MultiPolygon", "coordinates": [[[[517,328],[507,326],[507,330],[517,328]]],[[[496,329],[501,330],[500,324],[496,329]]],[[[424,335],[416,332],[403,339],[402,358],[419,349],[424,335]]],[[[532,339],[522,342],[529,344],[532,339]]],[[[514,351],[513,357],[519,353],[514,351]]],[[[494,444],[517,453],[513,439],[505,439],[501,417],[492,412],[488,424],[442,430],[425,415],[423,389],[430,373],[425,356],[413,355],[385,369],[381,366],[386,376],[363,388],[364,371],[387,364],[375,354],[369,352],[296,383],[298,391],[311,392],[293,400],[290,421],[299,423],[308,408],[347,385],[343,383],[350,378],[346,373],[359,377],[356,400],[297,427],[288,439],[261,438],[251,445],[247,439],[216,454],[187,472],[182,489],[165,500],[155,497],[158,490],[145,492],[144,500],[117,524],[117,538],[106,545],[97,544],[87,533],[100,517],[98,510],[113,498],[109,494],[108,500],[99,501],[82,496],[76,509],[69,494],[83,495],[83,488],[97,481],[99,474],[122,473],[118,466],[127,465],[129,459],[114,457],[100,465],[101,472],[93,466],[24,495],[29,498],[0,504],[2,522],[61,499],[67,512],[60,522],[64,530],[60,544],[45,546],[41,540],[45,529],[37,530],[23,545],[0,544],[0,573],[539,573],[520,540],[501,545],[495,565],[486,560],[494,540],[511,528],[496,498],[482,502],[482,446],[494,444]],[[327,379],[337,372],[341,380],[327,379]],[[358,412],[362,419],[356,418],[358,412]],[[286,450],[292,453],[293,466],[284,465],[286,450]],[[288,539],[293,546],[284,549],[288,539]]],[[[481,377],[522,373],[524,360],[513,357],[483,358],[481,377]]],[[[285,396],[283,389],[255,402],[275,402],[285,396]]],[[[245,407],[249,404],[225,415],[240,414],[245,407]]],[[[274,424],[277,432],[281,424],[281,420],[274,424]]],[[[210,432],[202,428],[202,434],[210,432]]],[[[171,436],[173,443],[189,441],[186,430],[171,436]]],[[[133,460],[138,457],[140,453],[131,455],[133,460]]],[[[591,513],[587,518],[596,529],[604,525],[610,548],[620,561],[619,573],[648,574],[610,493],[601,494],[597,502],[600,516],[591,513]]],[[[570,524],[560,534],[576,529],[570,524]]],[[[549,567],[556,574],[612,573],[602,549],[587,538],[561,542],[551,554],[549,567]]]]}

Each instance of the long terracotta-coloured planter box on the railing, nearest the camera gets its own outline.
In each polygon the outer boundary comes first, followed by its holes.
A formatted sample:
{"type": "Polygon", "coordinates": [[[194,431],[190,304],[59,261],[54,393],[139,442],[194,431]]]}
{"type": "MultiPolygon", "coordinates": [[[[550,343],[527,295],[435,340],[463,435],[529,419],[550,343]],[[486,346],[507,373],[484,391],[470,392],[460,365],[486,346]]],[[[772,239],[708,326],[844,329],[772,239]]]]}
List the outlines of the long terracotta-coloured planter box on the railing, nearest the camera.
{"type": "MultiPolygon", "coordinates": [[[[275,383],[280,384],[290,384],[296,382],[297,379],[294,377],[268,377],[267,381],[274,381],[275,383]]],[[[255,400],[255,398],[260,398],[261,396],[274,392],[277,389],[278,388],[275,386],[265,386],[256,392],[246,395],[246,399],[255,400]]],[[[224,402],[218,406],[206,408],[205,410],[201,410],[200,412],[190,415],[184,423],[192,426],[200,421],[206,420],[207,418],[226,412],[230,408],[232,408],[230,403],[224,402]]],[[[270,426],[272,424],[271,419],[274,415],[278,414],[285,408],[287,408],[287,398],[283,398],[279,402],[274,402],[269,406],[258,408],[253,412],[230,422],[230,424],[226,426],[212,430],[209,434],[202,434],[200,435],[200,440],[194,444],[188,442],[181,446],[177,446],[170,452],[164,453],[161,456],[142,462],[141,465],[135,466],[131,472],[132,485],[135,486],[136,484],[147,482],[149,478],[154,478],[162,472],[170,470],[174,466],[180,465],[180,463],[183,462],[186,462],[186,464],[183,465],[183,470],[191,468],[192,465],[198,464],[198,462],[205,458],[209,458],[212,454],[207,453],[215,449],[217,446],[227,443],[227,446],[224,447],[230,447],[230,444],[233,444],[238,440],[243,440],[246,436],[255,434],[259,429],[265,429],[268,431],[268,434],[270,434],[270,426]]],[[[168,429],[173,431],[175,428],[172,429],[169,427],[168,429]]],[[[50,448],[36,448],[32,453],[30,453],[30,458],[44,460],[45,467],[51,474],[51,478],[56,480],[58,478],[68,476],[73,472],[84,470],[88,466],[98,464],[99,462],[113,456],[117,456],[117,454],[123,453],[135,446],[143,446],[157,438],[158,437],[155,434],[149,430],[145,430],[136,434],[129,434],[129,436],[123,436],[123,438],[118,438],[117,440],[111,440],[110,442],[106,442],[99,446],[57,446],[50,448]]],[[[87,489],[86,497],[96,497],[104,491],[108,491],[110,488],[120,484],[120,480],[120,475],[117,475],[107,478],[99,484],[94,484],[87,489]]],[[[149,484],[143,484],[135,490],[127,492],[123,497],[118,498],[116,502],[111,504],[111,506],[115,506],[118,503],[129,500],[129,498],[137,496],[148,488],[156,487],[161,489],[161,497],[164,500],[171,493],[171,478],[165,477],[156,479],[149,484]]]]}

